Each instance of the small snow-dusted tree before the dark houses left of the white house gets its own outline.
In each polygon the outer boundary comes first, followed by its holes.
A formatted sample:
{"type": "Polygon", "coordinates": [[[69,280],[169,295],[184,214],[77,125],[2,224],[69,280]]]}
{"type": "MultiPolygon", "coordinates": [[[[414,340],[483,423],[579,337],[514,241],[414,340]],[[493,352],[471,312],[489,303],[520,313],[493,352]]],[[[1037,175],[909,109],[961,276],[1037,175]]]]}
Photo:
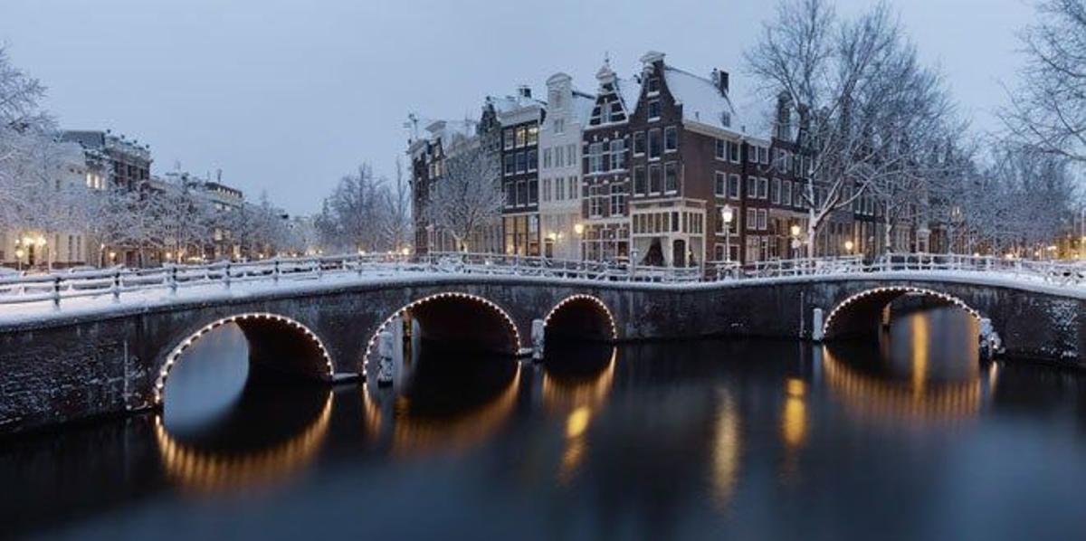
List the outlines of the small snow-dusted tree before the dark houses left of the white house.
{"type": "Polygon", "coordinates": [[[467,250],[472,234],[500,215],[504,202],[497,162],[473,146],[445,159],[444,175],[430,187],[427,213],[434,227],[453,236],[467,250]]]}

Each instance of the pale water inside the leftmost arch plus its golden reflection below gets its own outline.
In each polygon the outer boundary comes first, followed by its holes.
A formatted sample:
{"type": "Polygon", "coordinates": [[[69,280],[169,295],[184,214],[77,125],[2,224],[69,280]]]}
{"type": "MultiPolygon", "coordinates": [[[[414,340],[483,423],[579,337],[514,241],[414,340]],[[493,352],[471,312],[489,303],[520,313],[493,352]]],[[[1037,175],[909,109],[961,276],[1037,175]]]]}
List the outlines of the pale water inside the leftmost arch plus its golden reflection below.
{"type": "Polygon", "coordinates": [[[255,380],[248,354],[241,330],[224,325],[181,355],[166,383],[154,440],[167,478],[185,491],[282,483],[307,467],[326,437],[331,391],[290,378],[255,380]]]}

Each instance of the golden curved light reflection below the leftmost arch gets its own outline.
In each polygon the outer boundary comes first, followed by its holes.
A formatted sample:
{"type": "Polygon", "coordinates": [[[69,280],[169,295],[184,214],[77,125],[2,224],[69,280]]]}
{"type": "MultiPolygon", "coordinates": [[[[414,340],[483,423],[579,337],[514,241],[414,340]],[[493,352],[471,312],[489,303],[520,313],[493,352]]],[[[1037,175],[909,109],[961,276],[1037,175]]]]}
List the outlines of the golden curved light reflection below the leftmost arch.
{"type": "Polygon", "coordinates": [[[154,438],[166,476],[185,490],[222,492],[283,482],[316,456],[328,432],[332,393],[317,418],[298,436],[255,452],[232,454],[186,445],[169,435],[162,415],[154,418],[154,438]]]}

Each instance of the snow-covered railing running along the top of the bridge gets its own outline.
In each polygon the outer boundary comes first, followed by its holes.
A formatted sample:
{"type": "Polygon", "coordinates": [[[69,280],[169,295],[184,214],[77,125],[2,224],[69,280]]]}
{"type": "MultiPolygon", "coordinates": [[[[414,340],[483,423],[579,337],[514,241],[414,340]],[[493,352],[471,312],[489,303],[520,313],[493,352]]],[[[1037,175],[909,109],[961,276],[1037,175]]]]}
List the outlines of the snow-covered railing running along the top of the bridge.
{"type": "Polygon", "coordinates": [[[626,282],[729,281],[759,278],[837,276],[886,272],[985,273],[1020,277],[1061,286],[1086,285],[1086,265],[1055,261],[1031,261],[957,254],[885,254],[874,261],[861,256],[772,260],[741,265],[709,262],[704,267],[668,268],[631,265],[626,261],[569,261],[541,256],[481,253],[430,253],[408,257],[397,254],[336,255],[273,259],[247,263],[219,262],[205,265],[166,265],[157,268],[112,268],[79,273],[0,278],[0,305],[52,302],[78,298],[112,298],[125,293],[280,280],[319,280],[324,275],[379,278],[404,273],[533,276],[556,280],[626,282]]]}

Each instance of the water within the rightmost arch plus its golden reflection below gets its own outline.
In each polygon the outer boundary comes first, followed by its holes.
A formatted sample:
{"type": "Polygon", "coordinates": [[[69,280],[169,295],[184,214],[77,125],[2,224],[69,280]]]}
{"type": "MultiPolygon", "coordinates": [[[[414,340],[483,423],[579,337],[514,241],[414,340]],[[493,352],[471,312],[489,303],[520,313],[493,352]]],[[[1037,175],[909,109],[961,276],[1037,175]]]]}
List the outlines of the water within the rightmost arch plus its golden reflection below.
{"type": "Polygon", "coordinates": [[[956,422],[982,402],[975,323],[956,307],[895,318],[877,344],[822,350],[831,393],[854,417],[881,423],[956,422]]]}

